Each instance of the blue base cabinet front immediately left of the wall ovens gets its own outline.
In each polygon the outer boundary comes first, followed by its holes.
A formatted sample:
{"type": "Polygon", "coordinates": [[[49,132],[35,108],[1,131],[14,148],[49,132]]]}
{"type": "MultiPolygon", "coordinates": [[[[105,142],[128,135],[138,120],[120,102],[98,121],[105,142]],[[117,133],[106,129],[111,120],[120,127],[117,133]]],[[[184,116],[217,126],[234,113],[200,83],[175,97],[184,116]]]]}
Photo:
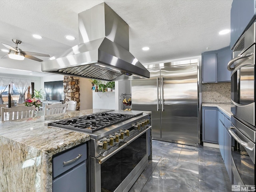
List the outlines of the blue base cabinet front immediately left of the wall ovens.
{"type": "Polygon", "coordinates": [[[228,133],[227,128],[231,126],[230,120],[228,118],[224,117],[224,163],[226,166],[226,170],[228,172],[228,176],[230,179],[230,182],[232,183],[232,169],[231,169],[231,161],[232,161],[232,156],[231,156],[231,136],[228,133]]]}

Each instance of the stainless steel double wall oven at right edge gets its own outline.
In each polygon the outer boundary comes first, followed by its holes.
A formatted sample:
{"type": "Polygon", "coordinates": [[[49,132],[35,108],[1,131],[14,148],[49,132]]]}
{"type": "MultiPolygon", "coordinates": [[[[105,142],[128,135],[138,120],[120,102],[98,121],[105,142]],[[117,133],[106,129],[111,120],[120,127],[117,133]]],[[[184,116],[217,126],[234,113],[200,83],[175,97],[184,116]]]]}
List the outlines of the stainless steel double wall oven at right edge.
{"type": "Polygon", "coordinates": [[[256,144],[256,23],[241,36],[228,63],[231,71],[233,184],[255,186],[256,144]]]}

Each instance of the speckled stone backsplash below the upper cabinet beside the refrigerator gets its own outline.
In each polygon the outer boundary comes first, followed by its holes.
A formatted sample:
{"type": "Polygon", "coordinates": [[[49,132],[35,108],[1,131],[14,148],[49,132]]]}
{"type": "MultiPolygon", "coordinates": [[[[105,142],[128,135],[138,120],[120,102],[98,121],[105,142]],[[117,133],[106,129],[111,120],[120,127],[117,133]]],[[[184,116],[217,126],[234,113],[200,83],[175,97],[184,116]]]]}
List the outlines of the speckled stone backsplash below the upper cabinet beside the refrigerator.
{"type": "Polygon", "coordinates": [[[202,102],[230,103],[230,82],[202,84],[202,102]]]}

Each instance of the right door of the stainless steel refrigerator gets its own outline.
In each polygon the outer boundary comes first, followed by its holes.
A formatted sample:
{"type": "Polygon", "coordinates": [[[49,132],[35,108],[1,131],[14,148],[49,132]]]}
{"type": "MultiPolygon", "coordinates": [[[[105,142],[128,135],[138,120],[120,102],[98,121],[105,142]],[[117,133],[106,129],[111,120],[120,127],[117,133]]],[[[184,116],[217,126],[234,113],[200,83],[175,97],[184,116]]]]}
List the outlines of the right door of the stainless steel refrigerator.
{"type": "Polygon", "coordinates": [[[162,139],[198,143],[197,64],[161,69],[162,139]]]}

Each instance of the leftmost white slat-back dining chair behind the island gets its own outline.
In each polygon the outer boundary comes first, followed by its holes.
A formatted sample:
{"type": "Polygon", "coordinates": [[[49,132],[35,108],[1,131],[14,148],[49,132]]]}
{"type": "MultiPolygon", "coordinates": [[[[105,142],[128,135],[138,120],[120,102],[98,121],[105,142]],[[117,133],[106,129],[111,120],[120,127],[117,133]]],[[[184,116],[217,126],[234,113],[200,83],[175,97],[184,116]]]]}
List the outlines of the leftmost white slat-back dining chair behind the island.
{"type": "Polygon", "coordinates": [[[35,116],[35,106],[16,106],[11,108],[1,108],[1,120],[10,121],[35,116]],[[4,120],[5,119],[5,120],[4,120]]]}

